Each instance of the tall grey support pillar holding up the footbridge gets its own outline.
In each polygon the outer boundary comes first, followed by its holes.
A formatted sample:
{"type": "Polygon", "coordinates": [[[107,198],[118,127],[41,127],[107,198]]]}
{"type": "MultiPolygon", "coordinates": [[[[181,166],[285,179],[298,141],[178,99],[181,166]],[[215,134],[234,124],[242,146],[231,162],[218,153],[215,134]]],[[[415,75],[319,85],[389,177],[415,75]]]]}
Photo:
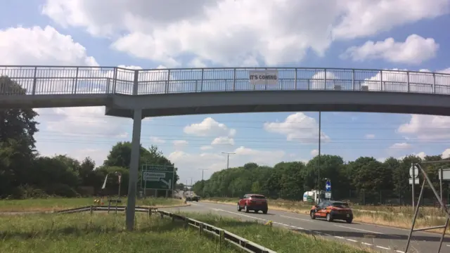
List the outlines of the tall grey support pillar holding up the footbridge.
{"type": "Polygon", "coordinates": [[[136,188],[138,182],[139,157],[141,151],[142,110],[135,109],[133,117],[133,137],[131,138],[131,162],[129,164],[129,183],[127,201],[127,230],[134,229],[134,207],[136,206],[136,188]]]}

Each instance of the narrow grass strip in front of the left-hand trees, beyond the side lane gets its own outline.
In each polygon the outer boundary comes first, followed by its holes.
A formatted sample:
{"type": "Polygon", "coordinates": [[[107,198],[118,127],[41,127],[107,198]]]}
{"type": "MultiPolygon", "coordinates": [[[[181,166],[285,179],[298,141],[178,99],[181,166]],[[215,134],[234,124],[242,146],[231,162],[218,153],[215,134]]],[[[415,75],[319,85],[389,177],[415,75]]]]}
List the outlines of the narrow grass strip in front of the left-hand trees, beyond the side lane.
{"type": "MultiPolygon", "coordinates": [[[[75,207],[94,205],[96,197],[51,197],[47,199],[29,199],[29,200],[0,200],[0,212],[49,212],[75,207]]],[[[127,205],[127,198],[122,197],[122,203],[127,205]]],[[[103,199],[103,206],[108,207],[108,201],[103,199]]],[[[111,203],[111,206],[115,203],[111,203]]],[[[136,206],[148,207],[174,207],[183,206],[184,200],[164,197],[148,197],[145,200],[136,200],[136,206]]]]}

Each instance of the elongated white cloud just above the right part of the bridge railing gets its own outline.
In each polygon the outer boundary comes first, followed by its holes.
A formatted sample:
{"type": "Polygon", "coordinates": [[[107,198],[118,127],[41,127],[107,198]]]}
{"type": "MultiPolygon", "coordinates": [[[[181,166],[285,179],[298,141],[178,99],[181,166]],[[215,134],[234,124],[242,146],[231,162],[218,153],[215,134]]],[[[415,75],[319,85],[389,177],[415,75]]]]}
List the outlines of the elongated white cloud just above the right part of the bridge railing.
{"type": "Polygon", "coordinates": [[[341,57],[354,61],[383,59],[391,63],[418,65],[434,58],[438,49],[435,39],[411,34],[404,42],[396,42],[392,37],[384,41],[367,41],[362,46],[347,48],[341,57]]]}

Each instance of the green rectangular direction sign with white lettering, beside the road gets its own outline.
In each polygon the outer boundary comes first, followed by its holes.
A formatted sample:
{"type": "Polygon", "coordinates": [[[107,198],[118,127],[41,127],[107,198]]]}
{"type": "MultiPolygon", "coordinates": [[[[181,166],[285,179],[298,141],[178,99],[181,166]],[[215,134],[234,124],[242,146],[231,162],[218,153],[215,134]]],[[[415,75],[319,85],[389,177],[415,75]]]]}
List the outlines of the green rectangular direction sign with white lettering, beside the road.
{"type": "Polygon", "coordinates": [[[162,165],[143,165],[141,188],[155,190],[172,190],[174,167],[162,165]]]}

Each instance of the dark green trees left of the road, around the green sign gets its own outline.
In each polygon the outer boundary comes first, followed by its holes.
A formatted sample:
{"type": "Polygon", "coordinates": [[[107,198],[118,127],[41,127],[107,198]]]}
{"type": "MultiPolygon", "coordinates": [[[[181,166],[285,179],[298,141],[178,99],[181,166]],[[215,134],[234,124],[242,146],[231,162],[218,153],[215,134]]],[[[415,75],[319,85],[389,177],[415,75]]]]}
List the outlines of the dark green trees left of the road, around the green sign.
{"type": "MultiPolygon", "coordinates": [[[[25,94],[25,90],[8,77],[0,77],[1,92],[25,94]]],[[[0,109],[0,198],[27,198],[86,195],[117,195],[119,182],[115,172],[122,174],[121,193],[128,192],[131,143],[118,142],[103,164],[96,166],[91,157],[78,161],[68,155],[47,157],[36,150],[34,134],[39,130],[33,109],[0,109]],[[101,189],[105,176],[106,188],[101,189]]],[[[158,147],[141,146],[141,164],[174,166],[158,147]]],[[[141,173],[139,173],[139,179],[141,173]]],[[[174,180],[179,179],[175,174],[174,180]]],[[[138,190],[141,188],[138,181],[138,190]]],[[[158,193],[165,196],[164,193],[158,193]]]]}

